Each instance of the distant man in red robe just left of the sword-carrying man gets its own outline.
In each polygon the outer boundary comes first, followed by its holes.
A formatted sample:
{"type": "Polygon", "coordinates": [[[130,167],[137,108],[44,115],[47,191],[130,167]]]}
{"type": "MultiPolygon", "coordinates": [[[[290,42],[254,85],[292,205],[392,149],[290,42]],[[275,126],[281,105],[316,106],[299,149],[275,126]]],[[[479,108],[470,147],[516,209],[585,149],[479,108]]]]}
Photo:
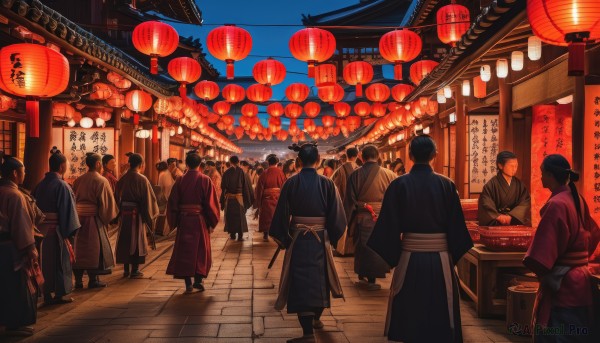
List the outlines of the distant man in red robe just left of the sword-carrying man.
{"type": "Polygon", "coordinates": [[[283,171],[277,168],[279,159],[274,154],[267,156],[269,168],[265,170],[256,183],[256,208],[258,214],[258,231],[263,233],[263,239],[269,238],[269,228],[279,200],[281,187],[285,182],[283,171]]]}

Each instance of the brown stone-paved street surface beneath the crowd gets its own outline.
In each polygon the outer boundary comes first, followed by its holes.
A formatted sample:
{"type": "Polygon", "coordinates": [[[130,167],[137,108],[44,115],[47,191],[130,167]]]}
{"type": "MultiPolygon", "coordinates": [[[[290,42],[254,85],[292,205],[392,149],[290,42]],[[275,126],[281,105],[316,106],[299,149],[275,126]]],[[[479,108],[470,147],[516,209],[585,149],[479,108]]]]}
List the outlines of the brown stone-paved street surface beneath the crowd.
{"type": "MultiPolygon", "coordinates": [[[[183,294],[182,280],[165,275],[172,239],[159,242],[143,269],[143,279],[122,279],[122,269],[101,290],[79,290],[75,302],[40,309],[36,334],[24,342],[285,342],[302,334],[296,316],[273,309],[283,253],[267,269],[275,251],[253,232],[244,242],[228,240],[219,225],[212,236],[213,268],[206,291],[183,294]]],[[[386,342],[383,325],[390,278],[382,290],[354,286],[352,258],[336,257],[346,299],[332,299],[323,314],[318,342],[386,342]]],[[[462,302],[465,342],[528,342],[506,334],[503,320],[482,320],[462,302]]],[[[0,335],[2,342],[14,342],[0,335]]]]}

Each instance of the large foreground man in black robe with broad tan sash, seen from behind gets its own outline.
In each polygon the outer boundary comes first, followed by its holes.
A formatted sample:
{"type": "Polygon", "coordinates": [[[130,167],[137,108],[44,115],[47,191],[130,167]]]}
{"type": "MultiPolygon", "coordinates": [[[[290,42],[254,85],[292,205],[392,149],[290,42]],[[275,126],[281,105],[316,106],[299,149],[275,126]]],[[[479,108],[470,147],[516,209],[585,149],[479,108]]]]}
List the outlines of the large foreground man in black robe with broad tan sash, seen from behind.
{"type": "Polygon", "coordinates": [[[433,139],[415,137],[415,163],[394,180],[367,245],[395,267],[385,334],[391,341],[462,342],[454,264],[473,242],[456,186],[433,172],[433,139]]]}

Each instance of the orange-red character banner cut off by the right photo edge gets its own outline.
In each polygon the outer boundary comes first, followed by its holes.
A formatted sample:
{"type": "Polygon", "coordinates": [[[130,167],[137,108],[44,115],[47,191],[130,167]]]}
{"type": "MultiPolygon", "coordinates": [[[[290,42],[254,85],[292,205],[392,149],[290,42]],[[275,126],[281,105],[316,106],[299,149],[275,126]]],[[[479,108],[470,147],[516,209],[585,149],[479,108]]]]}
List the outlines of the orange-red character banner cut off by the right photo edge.
{"type": "Polygon", "coordinates": [[[600,222],[600,85],[585,86],[583,194],[592,217],[600,222]]]}

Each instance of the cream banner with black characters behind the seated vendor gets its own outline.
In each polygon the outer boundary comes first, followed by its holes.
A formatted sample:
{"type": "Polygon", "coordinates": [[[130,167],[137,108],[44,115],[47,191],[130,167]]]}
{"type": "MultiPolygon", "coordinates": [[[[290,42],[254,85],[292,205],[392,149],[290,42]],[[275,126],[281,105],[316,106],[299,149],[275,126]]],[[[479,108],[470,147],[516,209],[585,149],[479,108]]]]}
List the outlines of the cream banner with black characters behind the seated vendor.
{"type": "Polygon", "coordinates": [[[469,191],[481,193],[496,176],[499,141],[498,115],[469,116],[469,191]]]}

